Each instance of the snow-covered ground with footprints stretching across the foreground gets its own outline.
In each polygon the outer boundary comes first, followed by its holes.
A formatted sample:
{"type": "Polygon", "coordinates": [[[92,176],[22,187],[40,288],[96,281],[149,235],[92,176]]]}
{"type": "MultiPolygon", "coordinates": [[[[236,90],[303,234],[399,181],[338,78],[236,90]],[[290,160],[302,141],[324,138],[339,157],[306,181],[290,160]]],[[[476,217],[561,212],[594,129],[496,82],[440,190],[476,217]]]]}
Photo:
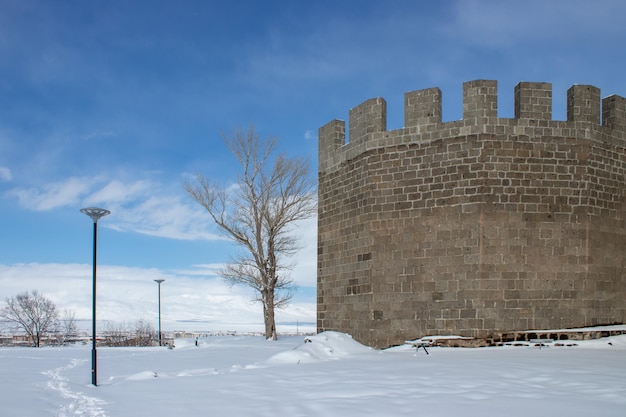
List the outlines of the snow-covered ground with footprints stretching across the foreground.
{"type": "Polygon", "coordinates": [[[626,416],[626,336],[385,351],[326,332],[175,349],[0,348],[0,416],[626,416]]]}

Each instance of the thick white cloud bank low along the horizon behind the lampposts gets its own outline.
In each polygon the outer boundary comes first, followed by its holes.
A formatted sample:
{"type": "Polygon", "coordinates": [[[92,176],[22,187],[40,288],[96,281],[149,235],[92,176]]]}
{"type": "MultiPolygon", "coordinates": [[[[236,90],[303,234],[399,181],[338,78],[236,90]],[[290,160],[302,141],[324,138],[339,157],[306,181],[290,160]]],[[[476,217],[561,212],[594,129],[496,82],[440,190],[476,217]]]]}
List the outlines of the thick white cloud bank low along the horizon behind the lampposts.
{"type": "MultiPolygon", "coordinates": [[[[197,271],[163,271],[150,268],[98,266],[97,319],[132,323],[156,320],[161,284],[161,315],[165,328],[220,329],[235,325],[259,326],[262,309],[244,287],[229,287],[212,274],[215,266],[197,271]]],[[[37,290],[60,311],[69,310],[79,320],[92,314],[92,266],[85,264],[0,264],[0,300],[37,290]]],[[[293,304],[277,312],[277,321],[313,322],[315,305],[293,304]]]]}

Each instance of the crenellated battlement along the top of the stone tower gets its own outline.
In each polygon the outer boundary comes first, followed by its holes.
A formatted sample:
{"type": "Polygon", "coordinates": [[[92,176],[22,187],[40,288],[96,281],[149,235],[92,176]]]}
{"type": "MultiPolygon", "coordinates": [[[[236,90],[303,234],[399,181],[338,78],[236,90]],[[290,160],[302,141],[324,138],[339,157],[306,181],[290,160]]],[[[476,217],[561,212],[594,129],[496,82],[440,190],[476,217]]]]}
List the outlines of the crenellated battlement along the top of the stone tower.
{"type": "Polygon", "coordinates": [[[387,131],[387,103],[369,99],[349,113],[345,122],[333,120],[319,129],[319,169],[338,164],[368,149],[424,142],[469,134],[567,136],[615,146],[626,146],[626,99],[612,95],[600,99],[600,89],[574,85],[567,91],[567,120],[552,120],[552,84],[520,82],[514,90],[514,117],[498,117],[497,81],[475,80],[463,84],[463,118],[442,122],[439,88],[411,91],[404,96],[404,127],[387,131]],[[602,109],[602,110],[601,110],[602,109]]]}

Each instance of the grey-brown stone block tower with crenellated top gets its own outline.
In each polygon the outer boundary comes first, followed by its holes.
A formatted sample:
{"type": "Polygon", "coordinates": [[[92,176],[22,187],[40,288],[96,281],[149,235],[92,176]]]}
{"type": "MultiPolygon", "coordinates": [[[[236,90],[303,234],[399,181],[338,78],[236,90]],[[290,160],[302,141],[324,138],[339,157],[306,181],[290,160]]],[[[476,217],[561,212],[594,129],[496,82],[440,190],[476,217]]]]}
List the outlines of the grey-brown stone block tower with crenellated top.
{"type": "Polygon", "coordinates": [[[402,129],[370,99],[319,129],[318,331],[374,347],[426,335],[626,322],[626,99],[463,86],[463,119],[441,91],[406,93],[402,129]]]}

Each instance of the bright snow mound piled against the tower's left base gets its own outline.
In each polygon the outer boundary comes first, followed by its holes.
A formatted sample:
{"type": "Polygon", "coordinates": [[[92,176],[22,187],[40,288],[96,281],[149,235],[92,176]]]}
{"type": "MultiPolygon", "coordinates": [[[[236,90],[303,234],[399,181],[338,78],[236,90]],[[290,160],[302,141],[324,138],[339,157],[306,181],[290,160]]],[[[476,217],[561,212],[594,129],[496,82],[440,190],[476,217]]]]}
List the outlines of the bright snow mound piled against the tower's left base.
{"type": "Polygon", "coordinates": [[[307,336],[304,344],[296,348],[278,353],[267,360],[272,365],[310,363],[324,360],[335,360],[352,355],[374,352],[352,339],[352,336],[339,332],[323,332],[315,336],[307,336]]]}

